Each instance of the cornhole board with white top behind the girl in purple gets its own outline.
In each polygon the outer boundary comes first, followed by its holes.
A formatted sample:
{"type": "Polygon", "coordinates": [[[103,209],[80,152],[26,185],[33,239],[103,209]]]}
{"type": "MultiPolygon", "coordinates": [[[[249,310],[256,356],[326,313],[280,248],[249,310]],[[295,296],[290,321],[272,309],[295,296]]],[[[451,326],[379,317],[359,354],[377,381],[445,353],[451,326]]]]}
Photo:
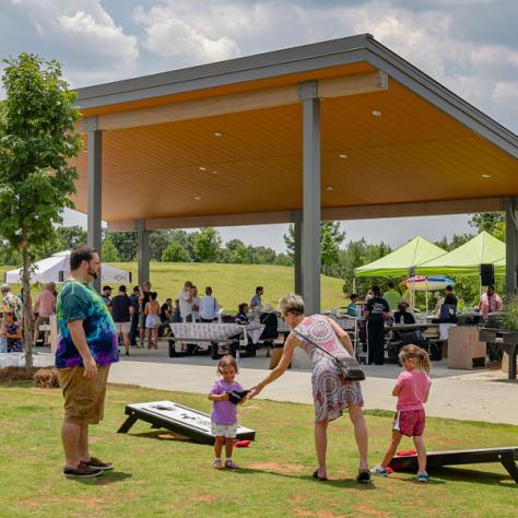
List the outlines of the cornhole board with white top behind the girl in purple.
{"type": "MultiPolygon", "coordinates": [[[[150,423],[152,428],[166,428],[181,434],[197,443],[213,445],[215,437],[211,433],[211,416],[195,409],[189,409],[173,401],[152,401],[126,405],[128,417],[117,431],[126,434],[138,420],[150,423]]],[[[255,440],[256,432],[245,426],[237,426],[236,439],[255,440]]]]}

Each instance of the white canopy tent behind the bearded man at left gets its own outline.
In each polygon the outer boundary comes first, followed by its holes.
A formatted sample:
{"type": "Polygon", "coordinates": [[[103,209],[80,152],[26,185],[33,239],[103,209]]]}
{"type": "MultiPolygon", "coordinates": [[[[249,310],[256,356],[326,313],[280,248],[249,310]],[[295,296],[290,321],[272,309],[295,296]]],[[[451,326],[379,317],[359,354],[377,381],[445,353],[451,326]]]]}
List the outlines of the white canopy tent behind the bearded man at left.
{"type": "MultiPolygon", "coordinates": [[[[64,250],[36,262],[34,272],[31,273],[31,283],[63,282],[69,274],[70,251],[64,250]]],[[[15,270],[7,272],[5,282],[13,284],[21,283],[21,269],[16,268],[15,270]]],[[[131,272],[103,263],[101,267],[101,282],[131,282],[131,272]]]]}

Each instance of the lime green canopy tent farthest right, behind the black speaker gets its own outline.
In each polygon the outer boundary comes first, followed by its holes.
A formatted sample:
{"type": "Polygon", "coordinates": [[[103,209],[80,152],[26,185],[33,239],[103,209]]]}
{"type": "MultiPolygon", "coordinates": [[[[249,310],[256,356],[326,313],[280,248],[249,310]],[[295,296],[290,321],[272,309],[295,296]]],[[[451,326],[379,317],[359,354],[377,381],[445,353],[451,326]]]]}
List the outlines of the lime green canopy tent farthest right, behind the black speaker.
{"type": "Polygon", "coordinates": [[[495,273],[505,274],[505,243],[487,232],[481,232],[468,243],[421,264],[416,270],[421,275],[479,275],[481,264],[494,264],[495,273]]]}

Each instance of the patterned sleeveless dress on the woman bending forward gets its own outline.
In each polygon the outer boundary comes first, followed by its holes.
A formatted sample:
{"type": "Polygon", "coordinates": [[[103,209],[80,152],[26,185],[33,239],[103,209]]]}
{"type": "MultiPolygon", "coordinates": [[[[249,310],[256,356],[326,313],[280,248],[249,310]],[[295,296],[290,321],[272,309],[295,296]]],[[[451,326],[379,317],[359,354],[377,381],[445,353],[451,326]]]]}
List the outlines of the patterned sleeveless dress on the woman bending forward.
{"type": "Polygon", "coordinates": [[[332,421],[340,417],[350,404],[363,407],[360,382],[348,381],[331,357],[302,337],[307,337],[333,356],[350,357],[351,355],[339,342],[328,319],[322,315],[306,317],[294,331],[295,337],[303,342],[302,349],[306,351],[313,363],[315,423],[320,423],[325,419],[332,421]]]}

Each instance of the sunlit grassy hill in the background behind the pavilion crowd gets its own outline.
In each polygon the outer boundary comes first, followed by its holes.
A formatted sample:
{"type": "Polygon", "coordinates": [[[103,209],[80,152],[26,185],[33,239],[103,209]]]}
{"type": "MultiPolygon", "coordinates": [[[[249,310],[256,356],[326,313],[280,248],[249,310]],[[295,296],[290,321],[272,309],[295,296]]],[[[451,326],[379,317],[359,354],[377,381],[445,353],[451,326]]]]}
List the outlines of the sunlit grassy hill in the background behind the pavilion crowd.
{"type": "MultiPolygon", "coordinates": [[[[137,263],[113,263],[117,268],[129,270],[137,283],[137,263]]],[[[0,267],[0,275],[13,267],[0,267]]],[[[279,299],[294,291],[294,270],[291,267],[272,264],[220,264],[201,262],[152,262],[151,282],[158,293],[158,299],[176,298],[184,287],[185,281],[192,281],[198,286],[200,296],[204,295],[204,286],[212,286],[214,296],[229,313],[237,313],[237,305],[249,303],[256,286],[264,286],[263,302],[276,307],[279,299]]],[[[114,287],[117,284],[114,285],[114,287]]],[[[330,276],[321,276],[322,308],[345,306],[349,303],[342,292],[343,281],[330,276]]],[[[20,293],[20,286],[14,287],[20,293]]],[[[33,296],[37,290],[33,292],[33,296]]]]}

